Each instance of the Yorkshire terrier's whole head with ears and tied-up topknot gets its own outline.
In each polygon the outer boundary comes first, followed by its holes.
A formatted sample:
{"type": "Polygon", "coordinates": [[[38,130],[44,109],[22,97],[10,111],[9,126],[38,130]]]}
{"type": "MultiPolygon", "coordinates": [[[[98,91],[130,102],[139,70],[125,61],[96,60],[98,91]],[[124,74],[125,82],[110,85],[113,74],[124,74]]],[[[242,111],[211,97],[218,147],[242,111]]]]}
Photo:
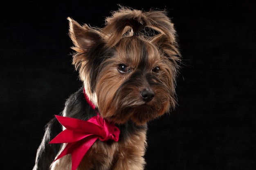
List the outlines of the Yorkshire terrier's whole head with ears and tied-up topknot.
{"type": "Polygon", "coordinates": [[[73,64],[103,118],[142,125],[175,108],[180,57],[165,13],[123,8],[103,29],[68,19],[73,64]]]}

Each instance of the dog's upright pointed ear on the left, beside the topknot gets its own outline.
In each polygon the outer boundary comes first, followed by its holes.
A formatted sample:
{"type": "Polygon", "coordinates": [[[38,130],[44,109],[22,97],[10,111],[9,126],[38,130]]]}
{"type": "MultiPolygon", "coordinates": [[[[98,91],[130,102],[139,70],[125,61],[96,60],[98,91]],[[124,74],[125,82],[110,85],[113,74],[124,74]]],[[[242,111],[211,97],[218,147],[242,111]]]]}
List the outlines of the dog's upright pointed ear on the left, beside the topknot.
{"type": "Polygon", "coordinates": [[[99,31],[90,28],[87,24],[81,26],[78,22],[72,20],[70,17],[69,20],[69,36],[74,44],[74,49],[77,52],[86,52],[88,51],[96,42],[101,40],[99,31]]]}

